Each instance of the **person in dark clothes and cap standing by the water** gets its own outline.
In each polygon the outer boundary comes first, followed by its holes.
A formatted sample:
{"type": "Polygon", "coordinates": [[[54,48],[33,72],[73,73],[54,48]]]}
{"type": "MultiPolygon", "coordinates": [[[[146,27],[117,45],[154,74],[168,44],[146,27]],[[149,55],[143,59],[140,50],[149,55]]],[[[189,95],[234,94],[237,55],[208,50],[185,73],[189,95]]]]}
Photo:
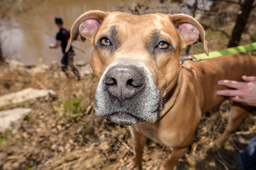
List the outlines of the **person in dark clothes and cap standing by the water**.
{"type": "Polygon", "coordinates": [[[61,59],[61,63],[63,64],[63,72],[66,72],[68,67],[70,67],[75,76],[78,77],[78,80],[80,80],[78,69],[73,65],[73,57],[75,55],[73,47],[71,46],[70,50],[68,52],[65,52],[65,48],[68,45],[68,39],[70,38],[70,30],[63,28],[63,20],[60,17],[55,17],[55,24],[59,28],[59,32],[56,35],[57,41],[55,44],[50,43],[49,47],[56,49],[61,46],[63,52],[63,58],[61,59]]]}

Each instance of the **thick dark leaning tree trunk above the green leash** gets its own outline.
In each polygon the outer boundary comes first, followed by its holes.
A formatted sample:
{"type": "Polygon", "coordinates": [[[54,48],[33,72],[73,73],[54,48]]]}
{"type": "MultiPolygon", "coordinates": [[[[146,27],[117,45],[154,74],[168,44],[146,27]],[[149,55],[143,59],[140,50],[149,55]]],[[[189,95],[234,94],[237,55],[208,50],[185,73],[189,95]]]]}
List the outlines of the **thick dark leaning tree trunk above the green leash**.
{"type": "Polygon", "coordinates": [[[228,42],[228,47],[235,47],[239,45],[241,40],[241,35],[245,30],[245,26],[247,23],[247,19],[250,16],[250,12],[253,9],[254,0],[245,0],[245,2],[241,6],[241,13],[238,14],[238,17],[235,21],[235,27],[233,28],[233,32],[228,42]]]}

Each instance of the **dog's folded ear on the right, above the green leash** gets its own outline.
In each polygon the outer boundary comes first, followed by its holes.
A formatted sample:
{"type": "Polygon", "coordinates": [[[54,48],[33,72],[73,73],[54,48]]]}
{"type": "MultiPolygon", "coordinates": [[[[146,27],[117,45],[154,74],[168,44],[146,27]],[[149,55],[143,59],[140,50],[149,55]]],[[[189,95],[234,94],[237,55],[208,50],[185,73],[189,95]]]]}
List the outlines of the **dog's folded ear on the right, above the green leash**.
{"type": "Polygon", "coordinates": [[[203,42],[203,50],[206,55],[208,52],[208,42],[206,40],[206,33],[198,21],[195,18],[185,14],[170,15],[171,21],[176,26],[179,35],[181,35],[182,47],[193,44],[195,42],[203,42]]]}

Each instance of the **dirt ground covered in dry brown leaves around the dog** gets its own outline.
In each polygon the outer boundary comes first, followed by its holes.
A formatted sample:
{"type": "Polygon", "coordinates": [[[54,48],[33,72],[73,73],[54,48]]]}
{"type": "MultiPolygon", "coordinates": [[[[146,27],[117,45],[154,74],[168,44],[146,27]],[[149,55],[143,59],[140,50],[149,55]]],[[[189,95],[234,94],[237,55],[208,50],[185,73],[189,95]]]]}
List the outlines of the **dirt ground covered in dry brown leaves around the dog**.
{"type": "MultiPolygon", "coordinates": [[[[56,65],[42,68],[0,65],[0,96],[26,87],[52,89],[58,94],[0,108],[32,108],[18,129],[14,125],[14,131],[0,133],[0,169],[127,169],[133,155],[131,135],[127,127],[95,115],[95,78],[87,75],[77,81],[67,78],[56,65]]],[[[208,152],[208,146],[223,132],[229,110],[230,101],[225,101],[221,117],[207,132],[203,128],[209,122],[208,114],[203,116],[193,144],[176,169],[225,169],[215,154],[208,152]]],[[[252,117],[238,133],[253,130],[252,117]]],[[[229,142],[225,148],[233,149],[229,142]]],[[[171,148],[149,140],[142,169],[158,169],[170,153],[171,148]]]]}

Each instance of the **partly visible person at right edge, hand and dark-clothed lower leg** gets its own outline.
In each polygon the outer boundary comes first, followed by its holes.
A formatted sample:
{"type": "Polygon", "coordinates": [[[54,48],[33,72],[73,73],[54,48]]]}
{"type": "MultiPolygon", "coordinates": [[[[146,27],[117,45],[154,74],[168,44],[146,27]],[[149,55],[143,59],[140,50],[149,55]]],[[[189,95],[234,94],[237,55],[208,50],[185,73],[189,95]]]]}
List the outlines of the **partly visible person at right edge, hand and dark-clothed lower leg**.
{"type": "MultiPolygon", "coordinates": [[[[244,81],[220,80],[219,85],[231,89],[217,91],[218,96],[227,96],[231,100],[254,108],[256,111],[256,77],[242,76],[244,81]]],[[[234,135],[231,143],[237,150],[233,152],[227,149],[218,150],[218,160],[228,166],[229,169],[256,169],[256,137],[255,134],[247,136],[234,135]]]]}

